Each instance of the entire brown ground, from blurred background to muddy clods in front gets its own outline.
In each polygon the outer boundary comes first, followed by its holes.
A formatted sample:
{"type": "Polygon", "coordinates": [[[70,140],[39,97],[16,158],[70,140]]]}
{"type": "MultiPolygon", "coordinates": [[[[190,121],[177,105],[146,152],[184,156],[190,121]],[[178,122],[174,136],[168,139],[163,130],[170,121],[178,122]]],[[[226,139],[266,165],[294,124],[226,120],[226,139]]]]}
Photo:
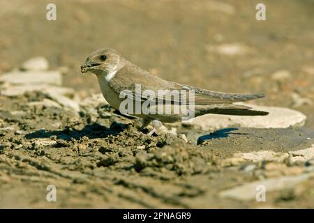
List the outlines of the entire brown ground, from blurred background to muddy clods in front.
{"type": "Polygon", "coordinates": [[[0,95],[0,207],[314,208],[314,3],[264,1],[267,21],[257,22],[259,2],[55,1],[57,21],[49,22],[45,1],[1,1],[2,73],[45,56],[81,101],[100,91],[80,65],[112,47],[160,77],[263,92],[257,104],[308,118],[287,129],[166,125],[186,142],[148,137],[139,119],[110,105],[91,113],[32,103],[52,100],[40,91],[0,95]],[[241,50],[215,48],[226,44],[241,50]],[[47,185],[57,187],[56,202],[46,201],[47,185]],[[266,201],[255,199],[256,185],[265,185],[266,201]]]}

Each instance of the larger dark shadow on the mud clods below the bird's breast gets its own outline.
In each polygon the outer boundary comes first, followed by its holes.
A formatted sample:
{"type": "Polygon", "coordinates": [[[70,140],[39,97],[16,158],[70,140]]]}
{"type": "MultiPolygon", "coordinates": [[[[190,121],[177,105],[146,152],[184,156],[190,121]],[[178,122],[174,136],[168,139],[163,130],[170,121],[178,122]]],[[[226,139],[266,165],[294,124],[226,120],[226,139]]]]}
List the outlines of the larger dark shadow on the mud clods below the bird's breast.
{"type": "Polygon", "coordinates": [[[93,123],[91,125],[86,125],[82,130],[75,130],[73,128],[64,128],[63,130],[38,130],[36,132],[31,132],[25,135],[26,139],[36,139],[36,138],[49,138],[56,136],[57,139],[64,139],[70,141],[71,139],[80,139],[83,136],[89,137],[89,139],[105,138],[108,135],[117,135],[124,129],[128,128],[128,124],[113,122],[110,128],[107,128],[98,123],[93,123]]]}

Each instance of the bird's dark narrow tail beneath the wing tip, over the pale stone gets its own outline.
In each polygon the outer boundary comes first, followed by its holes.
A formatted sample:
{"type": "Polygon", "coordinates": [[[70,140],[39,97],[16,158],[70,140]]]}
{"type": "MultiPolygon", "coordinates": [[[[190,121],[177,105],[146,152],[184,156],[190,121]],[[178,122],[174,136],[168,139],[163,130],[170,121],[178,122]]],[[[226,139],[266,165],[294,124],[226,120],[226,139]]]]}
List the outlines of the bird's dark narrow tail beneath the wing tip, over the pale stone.
{"type": "Polygon", "coordinates": [[[251,110],[251,107],[244,105],[223,104],[223,105],[195,105],[195,116],[204,114],[228,114],[233,116],[266,116],[269,112],[251,110]]]}

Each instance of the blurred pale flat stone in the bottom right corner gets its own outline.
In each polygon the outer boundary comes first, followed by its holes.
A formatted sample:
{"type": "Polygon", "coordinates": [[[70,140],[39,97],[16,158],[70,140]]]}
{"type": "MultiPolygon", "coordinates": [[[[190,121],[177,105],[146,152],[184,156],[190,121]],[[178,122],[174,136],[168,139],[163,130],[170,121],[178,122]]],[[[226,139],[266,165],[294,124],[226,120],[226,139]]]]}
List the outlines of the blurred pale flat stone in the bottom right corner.
{"type": "Polygon", "coordinates": [[[240,185],[238,187],[223,190],[219,193],[219,196],[227,199],[236,199],[239,201],[250,201],[256,198],[257,192],[259,191],[259,185],[264,186],[266,193],[278,190],[289,190],[313,176],[314,173],[309,173],[298,176],[282,176],[279,178],[257,180],[251,183],[245,183],[244,185],[240,185]]]}

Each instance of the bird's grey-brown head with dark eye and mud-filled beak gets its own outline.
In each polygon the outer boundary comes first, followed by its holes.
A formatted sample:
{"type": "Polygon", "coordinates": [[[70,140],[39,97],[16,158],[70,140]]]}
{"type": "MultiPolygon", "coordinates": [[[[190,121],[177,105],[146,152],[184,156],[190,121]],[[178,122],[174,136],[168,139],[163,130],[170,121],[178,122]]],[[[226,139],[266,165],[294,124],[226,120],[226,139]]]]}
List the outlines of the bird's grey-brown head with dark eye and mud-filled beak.
{"type": "Polygon", "coordinates": [[[114,49],[98,49],[92,52],[81,66],[81,72],[92,72],[95,75],[107,75],[124,66],[124,59],[114,49]]]}

